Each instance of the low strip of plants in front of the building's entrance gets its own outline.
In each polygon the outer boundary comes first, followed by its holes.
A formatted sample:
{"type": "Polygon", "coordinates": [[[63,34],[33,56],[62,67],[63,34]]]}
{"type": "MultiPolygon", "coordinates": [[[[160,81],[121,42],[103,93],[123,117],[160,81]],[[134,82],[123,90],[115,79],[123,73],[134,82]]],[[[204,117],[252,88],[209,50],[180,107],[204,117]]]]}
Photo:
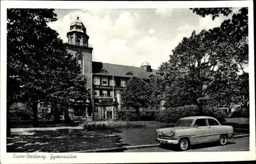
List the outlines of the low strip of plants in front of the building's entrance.
{"type": "Polygon", "coordinates": [[[118,130],[127,128],[146,127],[145,124],[140,122],[127,122],[127,121],[97,121],[86,122],[82,125],[87,130],[118,130]]]}

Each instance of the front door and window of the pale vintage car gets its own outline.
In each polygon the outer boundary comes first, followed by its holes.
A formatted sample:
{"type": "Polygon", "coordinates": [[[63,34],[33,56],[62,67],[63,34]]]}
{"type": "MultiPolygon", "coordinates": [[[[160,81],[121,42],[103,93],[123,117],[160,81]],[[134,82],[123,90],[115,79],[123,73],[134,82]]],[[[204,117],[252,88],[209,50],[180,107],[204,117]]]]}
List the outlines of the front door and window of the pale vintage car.
{"type": "Polygon", "coordinates": [[[195,128],[195,141],[196,143],[208,142],[210,139],[210,127],[206,119],[197,119],[194,126],[195,128]]]}

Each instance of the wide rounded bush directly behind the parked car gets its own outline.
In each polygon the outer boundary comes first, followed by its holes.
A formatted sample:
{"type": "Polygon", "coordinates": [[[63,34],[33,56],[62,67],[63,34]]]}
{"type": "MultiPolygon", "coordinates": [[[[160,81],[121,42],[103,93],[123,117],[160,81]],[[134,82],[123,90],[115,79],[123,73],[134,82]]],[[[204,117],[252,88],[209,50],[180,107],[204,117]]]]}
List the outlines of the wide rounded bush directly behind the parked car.
{"type": "Polygon", "coordinates": [[[227,114],[224,111],[219,110],[218,107],[204,106],[203,114],[199,114],[199,108],[196,105],[185,105],[170,107],[159,112],[156,115],[156,120],[159,122],[176,123],[180,118],[189,116],[210,116],[221,122],[227,118],[227,114]]]}

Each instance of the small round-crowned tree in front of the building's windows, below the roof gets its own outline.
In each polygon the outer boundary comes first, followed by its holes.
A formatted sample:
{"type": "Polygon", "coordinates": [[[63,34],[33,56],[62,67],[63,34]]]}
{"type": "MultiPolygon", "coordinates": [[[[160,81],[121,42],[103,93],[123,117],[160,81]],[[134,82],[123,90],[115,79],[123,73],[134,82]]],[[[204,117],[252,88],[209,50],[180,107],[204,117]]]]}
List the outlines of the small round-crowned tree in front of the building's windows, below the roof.
{"type": "Polygon", "coordinates": [[[152,87],[149,82],[138,77],[132,77],[127,81],[125,89],[121,93],[124,106],[131,106],[136,110],[139,119],[139,108],[151,105],[152,87]]]}

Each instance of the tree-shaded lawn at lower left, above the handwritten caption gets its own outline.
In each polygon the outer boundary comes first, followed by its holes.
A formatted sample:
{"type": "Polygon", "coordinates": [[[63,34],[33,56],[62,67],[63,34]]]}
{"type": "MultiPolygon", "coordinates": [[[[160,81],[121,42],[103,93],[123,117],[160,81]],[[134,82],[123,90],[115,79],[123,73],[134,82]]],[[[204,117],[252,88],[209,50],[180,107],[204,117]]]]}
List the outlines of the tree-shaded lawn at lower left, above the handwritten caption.
{"type": "Polygon", "coordinates": [[[7,152],[69,152],[124,146],[116,132],[111,131],[63,127],[23,128],[12,133],[7,138],[7,152]]]}

